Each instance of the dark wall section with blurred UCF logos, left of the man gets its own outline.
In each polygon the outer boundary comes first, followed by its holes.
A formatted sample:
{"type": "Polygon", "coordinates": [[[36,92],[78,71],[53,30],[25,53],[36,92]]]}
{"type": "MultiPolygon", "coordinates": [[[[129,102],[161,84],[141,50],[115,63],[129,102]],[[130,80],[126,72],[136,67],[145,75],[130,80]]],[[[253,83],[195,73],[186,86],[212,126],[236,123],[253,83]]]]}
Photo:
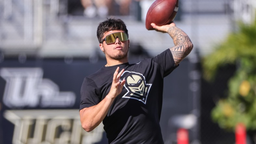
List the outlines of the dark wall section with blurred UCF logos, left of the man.
{"type": "Polygon", "coordinates": [[[86,66],[17,63],[0,67],[0,144],[107,143],[102,123],[90,133],[81,126],[80,88],[91,73],[86,66]]]}

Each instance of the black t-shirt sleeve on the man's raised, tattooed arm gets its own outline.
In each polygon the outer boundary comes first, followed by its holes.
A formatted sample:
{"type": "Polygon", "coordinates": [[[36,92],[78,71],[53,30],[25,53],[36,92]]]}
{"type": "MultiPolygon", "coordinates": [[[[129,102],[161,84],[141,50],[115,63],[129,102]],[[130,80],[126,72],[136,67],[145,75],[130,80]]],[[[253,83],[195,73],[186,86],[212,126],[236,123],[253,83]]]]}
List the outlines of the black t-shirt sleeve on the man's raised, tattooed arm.
{"type": "Polygon", "coordinates": [[[173,54],[170,51],[170,49],[167,49],[161,54],[154,57],[153,61],[158,63],[162,67],[164,71],[163,77],[168,76],[176,67],[179,66],[179,65],[177,66],[175,65],[175,62],[173,60],[173,54]]]}

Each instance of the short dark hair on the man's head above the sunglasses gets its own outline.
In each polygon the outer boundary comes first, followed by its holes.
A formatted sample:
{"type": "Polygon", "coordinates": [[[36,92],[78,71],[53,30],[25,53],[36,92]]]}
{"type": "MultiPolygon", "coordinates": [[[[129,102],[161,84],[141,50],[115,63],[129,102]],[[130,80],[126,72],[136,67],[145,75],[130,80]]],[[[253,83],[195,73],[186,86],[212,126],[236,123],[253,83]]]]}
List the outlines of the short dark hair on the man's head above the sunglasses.
{"type": "Polygon", "coordinates": [[[127,37],[129,38],[126,25],[121,19],[107,18],[103,22],[100,22],[97,28],[97,38],[99,43],[102,41],[104,33],[110,30],[123,30],[127,34],[127,37]]]}

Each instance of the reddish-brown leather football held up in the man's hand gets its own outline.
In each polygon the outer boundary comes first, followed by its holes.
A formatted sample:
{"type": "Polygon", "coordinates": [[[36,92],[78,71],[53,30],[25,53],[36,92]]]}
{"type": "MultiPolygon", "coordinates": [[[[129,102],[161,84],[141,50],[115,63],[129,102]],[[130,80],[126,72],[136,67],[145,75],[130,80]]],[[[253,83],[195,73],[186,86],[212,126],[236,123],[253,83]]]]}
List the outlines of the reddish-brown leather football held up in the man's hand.
{"type": "Polygon", "coordinates": [[[150,25],[158,26],[170,24],[175,18],[179,7],[179,0],[156,0],[147,10],[146,28],[154,30],[150,25]]]}

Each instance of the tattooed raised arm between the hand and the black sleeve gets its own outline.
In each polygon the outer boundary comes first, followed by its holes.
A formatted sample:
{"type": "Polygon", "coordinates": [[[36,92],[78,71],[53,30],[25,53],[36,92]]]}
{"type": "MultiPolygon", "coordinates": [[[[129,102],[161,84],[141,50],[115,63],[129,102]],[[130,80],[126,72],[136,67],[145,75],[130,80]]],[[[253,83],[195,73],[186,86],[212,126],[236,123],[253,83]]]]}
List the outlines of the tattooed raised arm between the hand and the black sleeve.
{"type": "Polygon", "coordinates": [[[187,36],[187,34],[173,26],[168,29],[169,35],[173,38],[174,47],[170,48],[175,65],[178,65],[193,49],[193,43],[187,36]]]}

